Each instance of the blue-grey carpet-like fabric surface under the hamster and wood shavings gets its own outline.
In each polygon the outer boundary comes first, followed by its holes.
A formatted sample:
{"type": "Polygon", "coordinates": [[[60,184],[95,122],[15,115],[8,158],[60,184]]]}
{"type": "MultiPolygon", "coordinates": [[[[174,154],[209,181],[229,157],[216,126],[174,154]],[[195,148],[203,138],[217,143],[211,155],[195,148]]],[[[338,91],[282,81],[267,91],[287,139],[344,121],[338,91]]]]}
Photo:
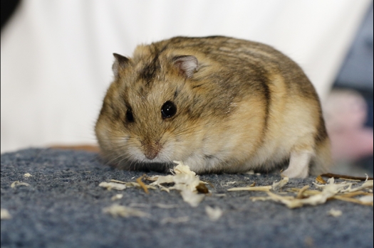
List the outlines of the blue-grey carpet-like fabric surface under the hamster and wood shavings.
{"type": "MultiPolygon", "coordinates": [[[[373,207],[330,200],[290,210],[270,201],[252,202],[261,192],[227,188],[271,185],[278,174],[204,175],[211,195],[197,207],[180,193],[139,188],[105,190],[110,179],[135,181],[144,172],[119,171],[100,163],[96,153],[27,149],[1,154],[1,247],[373,247],[373,207]],[[24,173],[32,176],[24,178],[24,173]],[[11,188],[15,180],[28,183],[11,188]],[[113,195],[123,198],[112,201],[113,195]],[[220,195],[225,194],[225,195],[220,195]],[[118,203],[150,217],[112,217],[103,208],[118,203]],[[157,204],[174,205],[161,208],[157,204]],[[213,222],[205,207],[224,213],[213,222]],[[334,208],[343,215],[333,217],[334,208]],[[162,224],[166,217],[186,222],[162,224]]],[[[147,173],[148,176],[157,173],[147,173]]],[[[291,179],[284,189],[312,185],[314,178],[291,179]]],[[[311,186],[313,188],[313,186],[311,186]]]]}

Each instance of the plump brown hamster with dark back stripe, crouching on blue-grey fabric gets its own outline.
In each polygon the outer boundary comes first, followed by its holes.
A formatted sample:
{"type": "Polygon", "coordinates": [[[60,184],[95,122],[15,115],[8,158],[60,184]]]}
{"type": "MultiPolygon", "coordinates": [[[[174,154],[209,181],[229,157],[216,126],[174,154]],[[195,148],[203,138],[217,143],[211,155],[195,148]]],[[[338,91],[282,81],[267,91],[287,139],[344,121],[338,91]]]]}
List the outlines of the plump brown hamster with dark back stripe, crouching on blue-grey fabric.
{"type": "Polygon", "coordinates": [[[196,173],[324,173],[330,141],[303,70],[269,45],[224,36],[175,37],[113,54],[114,80],[95,134],[112,166],[196,173]]]}

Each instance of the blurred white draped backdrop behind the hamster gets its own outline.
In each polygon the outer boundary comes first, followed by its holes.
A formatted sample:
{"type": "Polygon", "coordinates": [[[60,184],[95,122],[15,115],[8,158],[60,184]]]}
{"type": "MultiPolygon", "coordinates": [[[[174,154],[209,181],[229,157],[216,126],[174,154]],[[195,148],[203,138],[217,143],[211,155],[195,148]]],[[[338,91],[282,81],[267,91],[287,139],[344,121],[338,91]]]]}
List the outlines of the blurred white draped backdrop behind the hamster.
{"type": "Polygon", "coordinates": [[[112,53],[172,36],[223,35],[296,60],[322,101],[370,0],[27,0],[1,31],[1,152],[95,144],[112,53]]]}

